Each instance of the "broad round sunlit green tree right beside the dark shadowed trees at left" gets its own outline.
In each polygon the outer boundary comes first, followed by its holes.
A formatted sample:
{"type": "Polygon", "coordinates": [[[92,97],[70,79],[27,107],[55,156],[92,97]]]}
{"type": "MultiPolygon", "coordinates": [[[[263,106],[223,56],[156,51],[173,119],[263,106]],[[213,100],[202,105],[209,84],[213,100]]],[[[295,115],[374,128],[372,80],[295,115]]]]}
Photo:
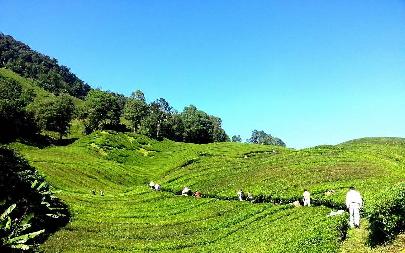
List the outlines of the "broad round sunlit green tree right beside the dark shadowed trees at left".
{"type": "Polygon", "coordinates": [[[33,103],[29,109],[42,129],[58,132],[59,138],[62,139],[69,133],[76,106],[70,96],[60,95],[55,101],[33,103]]]}

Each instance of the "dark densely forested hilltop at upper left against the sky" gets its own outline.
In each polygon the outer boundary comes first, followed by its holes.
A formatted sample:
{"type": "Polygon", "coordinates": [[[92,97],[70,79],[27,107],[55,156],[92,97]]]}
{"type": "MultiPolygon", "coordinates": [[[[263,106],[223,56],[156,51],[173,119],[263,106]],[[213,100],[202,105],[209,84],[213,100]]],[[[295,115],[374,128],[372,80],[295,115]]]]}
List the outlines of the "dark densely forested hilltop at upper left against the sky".
{"type": "Polygon", "coordinates": [[[0,33],[0,67],[10,69],[54,93],[83,98],[91,87],[58,60],[38,53],[12,36],[0,33]]]}

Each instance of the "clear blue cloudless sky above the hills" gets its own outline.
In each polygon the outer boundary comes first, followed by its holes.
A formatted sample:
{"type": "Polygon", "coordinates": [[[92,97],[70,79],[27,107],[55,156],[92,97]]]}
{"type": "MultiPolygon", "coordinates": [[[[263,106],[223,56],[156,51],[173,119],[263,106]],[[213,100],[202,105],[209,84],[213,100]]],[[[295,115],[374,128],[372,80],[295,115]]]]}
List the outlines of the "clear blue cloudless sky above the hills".
{"type": "Polygon", "coordinates": [[[6,1],[0,31],[93,88],[288,147],[405,137],[405,1],[6,1]]]}

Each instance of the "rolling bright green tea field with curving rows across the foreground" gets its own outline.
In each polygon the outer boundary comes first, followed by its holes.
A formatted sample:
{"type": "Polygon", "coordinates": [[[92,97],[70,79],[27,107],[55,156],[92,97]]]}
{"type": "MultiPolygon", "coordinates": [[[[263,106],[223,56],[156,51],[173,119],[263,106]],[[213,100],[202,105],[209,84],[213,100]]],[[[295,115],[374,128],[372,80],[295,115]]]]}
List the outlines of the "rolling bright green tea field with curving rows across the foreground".
{"type": "Polygon", "coordinates": [[[63,147],[18,146],[61,190],[72,214],[41,246],[44,252],[335,252],[348,216],[328,218],[331,209],[319,205],[342,206],[354,185],[367,208],[375,193],[403,181],[403,143],[368,138],[296,151],[96,131],[63,147]],[[165,191],[149,190],[150,180],[165,191]],[[175,195],[182,186],[206,197],[175,195]],[[265,203],[226,201],[236,199],[239,188],[265,203]],[[303,188],[317,207],[274,204],[301,199],[303,188]],[[105,196],[91,195],[92,189],[105,196]]]}

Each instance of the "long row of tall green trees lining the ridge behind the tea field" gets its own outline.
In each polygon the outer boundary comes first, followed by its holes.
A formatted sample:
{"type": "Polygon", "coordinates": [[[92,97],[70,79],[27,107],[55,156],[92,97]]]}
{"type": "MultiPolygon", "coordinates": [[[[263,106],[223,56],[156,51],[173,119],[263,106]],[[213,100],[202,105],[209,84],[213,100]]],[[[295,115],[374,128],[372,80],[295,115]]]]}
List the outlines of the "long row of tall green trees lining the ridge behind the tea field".
{"type": "Polygon", "coordinates": [[[230,141],[221,126],[221,119],[208,115],[190,105],[179,113],[164,98],[146,103],[145,95],[138,90],[130,98],[108,91],[91,90],[85,105],[77,116],[87,132],[98,129],[119,129],[120,117],[131,122],[132,131],[152,138],[190,143],[230,141]]]}

